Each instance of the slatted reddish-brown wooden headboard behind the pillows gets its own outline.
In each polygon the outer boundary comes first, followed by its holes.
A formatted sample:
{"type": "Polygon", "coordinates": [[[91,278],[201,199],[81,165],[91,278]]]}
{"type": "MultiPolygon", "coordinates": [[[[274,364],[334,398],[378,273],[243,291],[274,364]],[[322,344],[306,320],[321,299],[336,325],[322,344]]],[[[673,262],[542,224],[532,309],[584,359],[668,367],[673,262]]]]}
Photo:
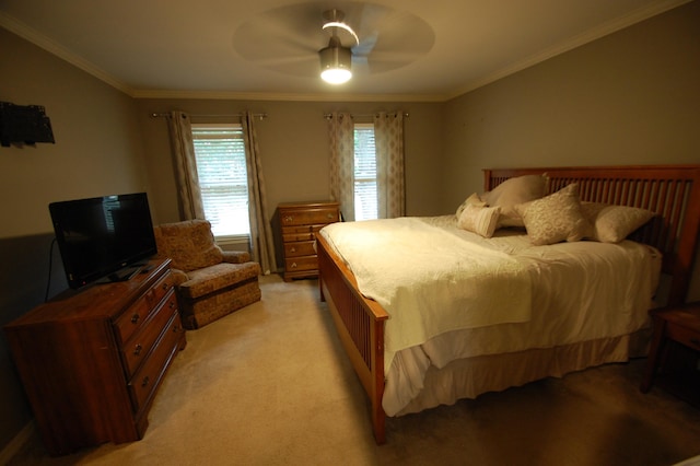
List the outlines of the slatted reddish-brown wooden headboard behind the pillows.
{"type": "Polygon", "coordinates": [[[487,168],[485,189],[522,175],[547,173],[548,194],[579,183],[581,200],[630,206],[656,212],[633,240],[664,255],[670,275],[668,304],[685,302],[700,230],[700,165],[487,168]]]}

